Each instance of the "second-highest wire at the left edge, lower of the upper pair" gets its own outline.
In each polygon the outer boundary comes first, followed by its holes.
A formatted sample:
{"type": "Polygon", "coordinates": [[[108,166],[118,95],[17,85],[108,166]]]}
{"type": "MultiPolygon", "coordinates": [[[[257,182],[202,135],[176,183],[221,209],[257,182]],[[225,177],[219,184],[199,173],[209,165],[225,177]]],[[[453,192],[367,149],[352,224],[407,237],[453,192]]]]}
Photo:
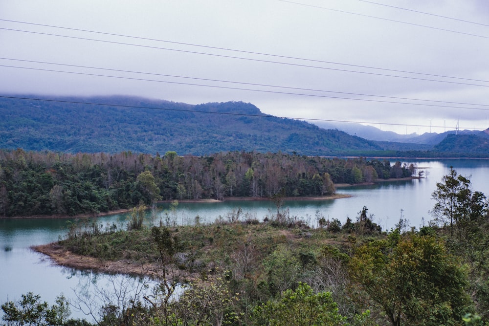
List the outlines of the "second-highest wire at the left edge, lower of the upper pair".
{"type": "MultiPolygon", "coordinates": [[[[374,76],[382,76],[382,77],[405,78],[405,79],[411,79],[411,80],[422,80],[422,81],[438,82],[438,83],[448,83],[448,84],[456,84],[456,85],[469,85],[469,86],[489,87],[489,85],[481,85],[481,84],[450,82],[450,81],[444,81],[444,80],[438,80],[438,79],[427,79],[427,78],[417,78],[417,77],[408,77],[408,76],[388,75],[388,74],[381,74],[381,73],[375,73],[375,72],[366,72],[366,71],[357,71],[357,70],[347,70],[347,69],[338,69],[338,68],[327,68],[327,67],[321,67],[321,66],[316,66],[316,65],[292,64],[292,63],[279,62],[279,61],[269,61],[269,60],[252,59],[252,58],[245,58],[245,57],[236,57],[236,56],[229,56],[229,55],[222,55],[222,54],[214,54],[214,53],[205,53],[205,52],[197,52],[197,51],[189,51],[189,50],[179,50],[179,49],[172,49],[172,48],[158,47],[158,46],[150,46],[150,45],[142,45],[142,44],[133,44],[133,43],[124,43],[124,42],[97,40],[97,39],[90,39],[90,38],[76,37],[76,36],[67,36],[67,35],[60,35],[60,34],[52,34],[52,33],[33,32],[33,31],[26,31],[26,30],[13,29],[13,28],[0,27],[0,29],[8,30],[8,31],[15,31],[15,32],[24,32],[24,33],[39,34],[39,35],[49,35],[49,36],[65,37],[65,38],[69,38],[69,39],[77,39],[77,40],[85,40],[85,41],[95,41],[95,42],[111,43],[111,44],[120,44],[120,45],[131,45],[131,46],[139,46],[139,47],[144,47],[144,48],[160,49],[160,50],[168,50],[168,51],[176,51],[176,52],[191,53],[191,54],[203,54],[203,55],[214,56],[214,57],[230,58],[230,59],[240,59],[240,60],[247,60],[247,61],[254,61],[254,62],[272,63],[272,64],[278,64],[278,65],[290,65],[290,66],[316,68],[316,69],[325,69],[325,70],[333,70],[333,71],[353,72],[353,73],[366,74],[366,75],[374,75],[374,76]]],[[[488,81],[483,81],[483,82],[488,82],[488,81]]]]}

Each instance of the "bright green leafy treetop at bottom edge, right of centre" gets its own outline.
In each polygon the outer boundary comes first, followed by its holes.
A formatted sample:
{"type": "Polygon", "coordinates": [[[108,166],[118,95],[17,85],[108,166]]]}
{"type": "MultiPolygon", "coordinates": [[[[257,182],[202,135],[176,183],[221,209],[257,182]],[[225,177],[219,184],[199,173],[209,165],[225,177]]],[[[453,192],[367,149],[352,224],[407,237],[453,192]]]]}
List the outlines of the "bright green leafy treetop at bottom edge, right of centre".
{"type": "Polygon", "coordinates": [[[331,292],[313,293],[305,283],[300,283],[295,290],[282,292],[277,301],[256,306],[251,319],[253,325],[267,326],[346,325],[346,318],[338,313],[331,292]]]}

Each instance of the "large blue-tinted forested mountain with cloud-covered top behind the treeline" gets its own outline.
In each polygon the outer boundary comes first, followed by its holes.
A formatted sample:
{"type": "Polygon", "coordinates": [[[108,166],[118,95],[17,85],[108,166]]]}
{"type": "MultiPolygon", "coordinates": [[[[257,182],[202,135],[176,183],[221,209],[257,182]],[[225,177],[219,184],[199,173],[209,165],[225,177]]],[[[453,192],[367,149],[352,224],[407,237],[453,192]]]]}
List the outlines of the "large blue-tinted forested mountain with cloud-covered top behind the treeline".
{"type": "Polygon", "coordinates": [[[196,155],[242,150],[344,155],[383,150],[373,141],[267,115],[243,102],[189,105],[124,96],[32,98],[0,97],[0,148],[196,155]]]}

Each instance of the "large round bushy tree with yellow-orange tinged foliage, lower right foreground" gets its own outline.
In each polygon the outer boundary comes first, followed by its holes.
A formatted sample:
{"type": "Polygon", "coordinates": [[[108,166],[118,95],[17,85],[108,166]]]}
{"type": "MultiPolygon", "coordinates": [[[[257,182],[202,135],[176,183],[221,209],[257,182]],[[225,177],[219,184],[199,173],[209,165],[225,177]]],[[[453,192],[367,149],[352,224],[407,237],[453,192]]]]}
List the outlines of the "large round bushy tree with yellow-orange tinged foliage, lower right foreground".
{"type": "Polygon", "coordinates": [[[349,272],[392,326],[460,325],[471,310],[466,269],[433,236],[406,234],[362,245],[349,272]]]}

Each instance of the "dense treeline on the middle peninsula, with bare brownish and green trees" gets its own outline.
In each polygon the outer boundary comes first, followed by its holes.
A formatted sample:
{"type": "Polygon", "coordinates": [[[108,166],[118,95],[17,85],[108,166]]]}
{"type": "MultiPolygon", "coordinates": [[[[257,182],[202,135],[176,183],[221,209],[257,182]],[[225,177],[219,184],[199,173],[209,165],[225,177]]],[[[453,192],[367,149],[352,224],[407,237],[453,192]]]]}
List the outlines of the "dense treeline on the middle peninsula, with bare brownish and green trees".
{"type": "Polygon", "coordinates": [[[121,152],[0,151],[0,216],[96,214],[164,199],[325,196],[335,183],[399,178],[396,162],[221,152],[178,156],[121,152]]]}

